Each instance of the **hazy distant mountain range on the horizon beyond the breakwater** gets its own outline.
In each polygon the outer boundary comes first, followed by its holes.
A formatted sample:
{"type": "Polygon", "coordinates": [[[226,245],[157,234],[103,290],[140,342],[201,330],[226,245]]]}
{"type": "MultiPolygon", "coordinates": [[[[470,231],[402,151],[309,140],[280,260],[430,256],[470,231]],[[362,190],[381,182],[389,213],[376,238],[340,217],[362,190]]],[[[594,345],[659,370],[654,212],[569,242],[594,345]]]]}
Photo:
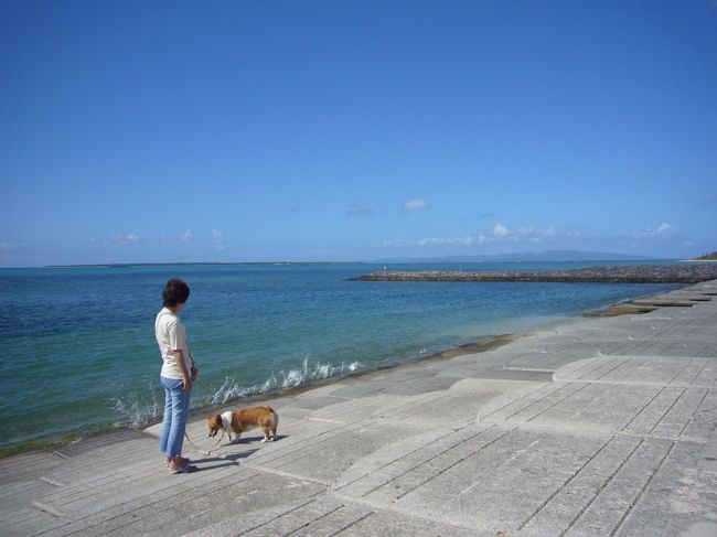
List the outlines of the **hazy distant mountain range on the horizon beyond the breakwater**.
{"type": "Polygon", "coordinates": [[[376,259],[373,264],[394,262],[496,262],[496,261],[651,261],[654,257],[607,251],[548,250],[524,251],[513,254],[494,254],[483,256],[445,256],[445,257],[395,257],[376,259]]]}

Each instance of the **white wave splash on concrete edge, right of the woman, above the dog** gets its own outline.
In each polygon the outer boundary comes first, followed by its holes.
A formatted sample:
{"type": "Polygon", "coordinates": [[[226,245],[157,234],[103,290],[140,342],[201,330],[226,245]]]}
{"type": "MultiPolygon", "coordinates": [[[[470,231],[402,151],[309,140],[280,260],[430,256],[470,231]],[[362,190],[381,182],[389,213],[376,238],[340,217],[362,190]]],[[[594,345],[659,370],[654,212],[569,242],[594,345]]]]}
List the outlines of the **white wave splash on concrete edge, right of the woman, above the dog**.
{"type": "Polygon", "coordinates": [[[267,394],[283,388],[296,388],[313,380],[343,377],[362,367],[360,362],[340,365],[312,364],[306,357],[298,369],[281,369],[271,374],[264,383],[254,386],[240,386],[236,377],[226,377],[224,384],[212,395],[206,404],[211,406],[223,405],[231,399],[247,397],[257,394],[267,394]]]}

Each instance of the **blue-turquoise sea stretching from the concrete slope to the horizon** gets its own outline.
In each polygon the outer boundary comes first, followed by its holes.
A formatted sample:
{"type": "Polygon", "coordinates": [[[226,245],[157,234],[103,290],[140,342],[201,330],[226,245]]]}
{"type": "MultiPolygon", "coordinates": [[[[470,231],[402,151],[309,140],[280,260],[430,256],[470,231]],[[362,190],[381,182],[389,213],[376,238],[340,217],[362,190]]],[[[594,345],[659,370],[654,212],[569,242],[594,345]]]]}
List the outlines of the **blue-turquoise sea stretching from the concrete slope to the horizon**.
{"type": "MultiPolygon", "coordinates": [[[[392,266],[550,270],[592,264],[392,266]]],[[[670,286],[357,282],[372,265],[0,269],[0,448],[162,411],[153,321],[168,278],[202,376],[192,406],[375,368],[670,286]]],[[[674,286],[672,286],[674,287],[674,286]]]]}

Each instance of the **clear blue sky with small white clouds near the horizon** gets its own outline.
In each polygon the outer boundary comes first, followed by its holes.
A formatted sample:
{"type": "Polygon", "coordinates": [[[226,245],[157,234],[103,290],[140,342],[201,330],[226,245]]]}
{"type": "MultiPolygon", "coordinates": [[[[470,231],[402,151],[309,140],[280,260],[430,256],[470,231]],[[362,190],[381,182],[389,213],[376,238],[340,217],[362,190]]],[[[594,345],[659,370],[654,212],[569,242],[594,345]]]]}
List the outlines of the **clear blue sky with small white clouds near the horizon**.
{"type": "Polygon", "coordinates": [[[717,1],[0,2],[0,266],[717,249],[717,1]]]}

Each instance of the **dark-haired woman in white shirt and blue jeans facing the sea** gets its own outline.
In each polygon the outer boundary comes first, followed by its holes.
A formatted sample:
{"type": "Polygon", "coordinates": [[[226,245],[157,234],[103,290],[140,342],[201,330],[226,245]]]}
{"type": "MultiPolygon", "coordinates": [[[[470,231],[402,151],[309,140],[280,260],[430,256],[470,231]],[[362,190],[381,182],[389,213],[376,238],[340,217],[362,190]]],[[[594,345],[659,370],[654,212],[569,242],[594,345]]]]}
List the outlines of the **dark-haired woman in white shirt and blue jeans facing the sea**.
{"type": "Polygon", "coordinates": [[[164,422],[159,437],[159,450],[165,454],[167,464],[174,474],[190,473],[196,466],[182,457],[184,429],[190,409],[192,382],[199,370],[186,343],[186,331],[179,318],[190,298],[190,288],[181,280],[169,280],[162,291],[164,308],[157,314],[154,334],[162,354],[160,380],[164,386],[164,422]]]}

